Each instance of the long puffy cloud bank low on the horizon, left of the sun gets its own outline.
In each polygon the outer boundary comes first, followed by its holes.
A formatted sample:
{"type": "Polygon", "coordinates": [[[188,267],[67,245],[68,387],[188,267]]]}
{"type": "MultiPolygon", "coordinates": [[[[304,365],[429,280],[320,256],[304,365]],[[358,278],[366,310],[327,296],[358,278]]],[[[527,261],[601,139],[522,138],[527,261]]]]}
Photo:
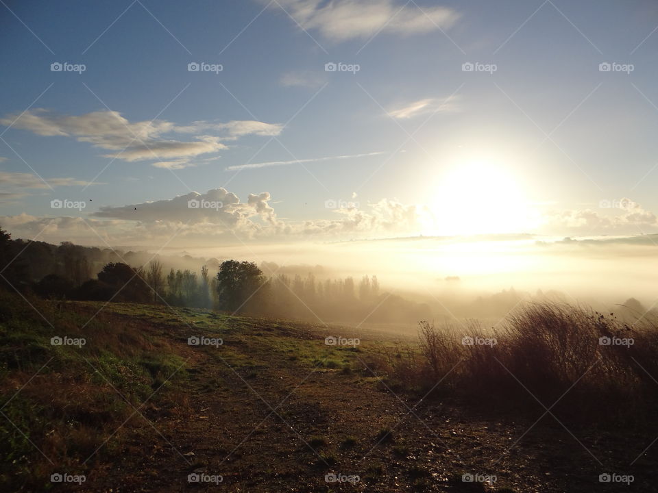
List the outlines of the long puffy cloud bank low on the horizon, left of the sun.
{"type": "Polygon", "coordinates": [[[348,204],[333,210],[335,217],[330,219],[288,221],[278,218],[269,192],[249,194],[242,202],[236,194],[217,188],[204,194],[191,192],[173,199],[101,207],[87,218],[20,214],[0,217],[0,224],[15,238],[32,238],[42,231],[40,238],[51,242],[99,244],[101,236],[113,245],[137,245],[162,244],[175,235],[176,243],[184,246],[217,240],[288,242],[313,236],[345,239],[417,233],[426,212],[424,207],[382,199],[361,209],[348,204]]]}

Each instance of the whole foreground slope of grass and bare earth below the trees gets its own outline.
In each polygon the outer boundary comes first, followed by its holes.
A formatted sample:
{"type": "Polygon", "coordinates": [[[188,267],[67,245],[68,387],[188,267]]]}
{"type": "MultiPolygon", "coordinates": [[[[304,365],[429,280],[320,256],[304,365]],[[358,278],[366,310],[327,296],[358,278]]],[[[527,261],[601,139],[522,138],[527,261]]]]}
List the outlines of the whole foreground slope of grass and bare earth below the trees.
{"type": "MultiPolygon", "coordinates": [[[[49,475],[69,472],[87,477],[71,490],[89,492],[484,491],[459,480],[478,472],[497,475],[491,491],[589,492],[601,490],[601,472],[619,471],[650,442],[575,430],[600,466],[547,418],[505,455],[542,409],[522,420],[480,418],[436,399],[413,407],[418,398],[396,396],[374,375],[394,345],[366,331],[33,301],[41,317],[2,297],[3,490],[66,490],[49,475]],[[49,344],[64,335],[86,344],[49,344]],[[188,346],[193,335],[223,345],[188,346]],[[328,335],[358,336],[361,346],[326,346],[328,335]],[[622,460],[626,449],[633,457],[622,460]],[[191,472],[223,483],[188,485],[191,472]],[[328,472],[361,481],[328,485],[328,472]]],[[[650,465],[641,459],[635,470],[650,465]]]]}

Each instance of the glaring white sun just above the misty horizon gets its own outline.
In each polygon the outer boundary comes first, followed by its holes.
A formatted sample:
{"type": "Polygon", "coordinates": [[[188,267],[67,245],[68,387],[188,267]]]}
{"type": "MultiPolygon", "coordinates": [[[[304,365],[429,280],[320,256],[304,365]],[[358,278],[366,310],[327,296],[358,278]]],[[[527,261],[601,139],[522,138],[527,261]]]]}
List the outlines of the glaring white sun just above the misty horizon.
{"type": "Polygon", "coordinates": [[[521,233],[531,224],[521,184],[504,166],[463,162],[439,179],[430,207],[442,235],[521,233]]]}

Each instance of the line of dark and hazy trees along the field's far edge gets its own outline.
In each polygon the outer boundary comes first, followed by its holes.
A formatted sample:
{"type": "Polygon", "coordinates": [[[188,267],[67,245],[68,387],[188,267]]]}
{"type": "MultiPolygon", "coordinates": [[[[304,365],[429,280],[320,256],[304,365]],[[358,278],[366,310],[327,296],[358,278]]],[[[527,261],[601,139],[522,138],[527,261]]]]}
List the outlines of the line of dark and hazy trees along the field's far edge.
{"type": "Polygon", "coordinates": [[[239,260],[221,262],[216,273],[205,264],[195,272],[167,270],[160,260],[141,266],[122,260],[106,250],[70,242],[55,246],[11,240],[0,229],[0,282],[46,298],[155,303],[315,321],[400,322],[429,312],[426,305],[381,292],[376,276],[358,281],[316,279],[313,273],[266,276],[253,262],[239,260]]]}

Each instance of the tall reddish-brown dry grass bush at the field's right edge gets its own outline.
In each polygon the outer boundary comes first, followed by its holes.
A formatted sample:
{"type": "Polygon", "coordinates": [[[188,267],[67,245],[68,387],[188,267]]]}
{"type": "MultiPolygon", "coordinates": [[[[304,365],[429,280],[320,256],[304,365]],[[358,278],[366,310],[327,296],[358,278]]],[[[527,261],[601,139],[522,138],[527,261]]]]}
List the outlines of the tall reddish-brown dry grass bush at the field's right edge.
{"type": "Polygon", "coordinates": [[[419,345],[389,359],[388,377],[400,388],[449,389],[503,407],[537,400],[550,407],[561,399],[555,409],[589,416],[605,400],[620,415],[639,416],[637,409],[650,412],[658,396],[658,323],[643,317],[631,326],[561,303],[525,305],[497,330],[475,321],[421,322],[419,345]]]}

